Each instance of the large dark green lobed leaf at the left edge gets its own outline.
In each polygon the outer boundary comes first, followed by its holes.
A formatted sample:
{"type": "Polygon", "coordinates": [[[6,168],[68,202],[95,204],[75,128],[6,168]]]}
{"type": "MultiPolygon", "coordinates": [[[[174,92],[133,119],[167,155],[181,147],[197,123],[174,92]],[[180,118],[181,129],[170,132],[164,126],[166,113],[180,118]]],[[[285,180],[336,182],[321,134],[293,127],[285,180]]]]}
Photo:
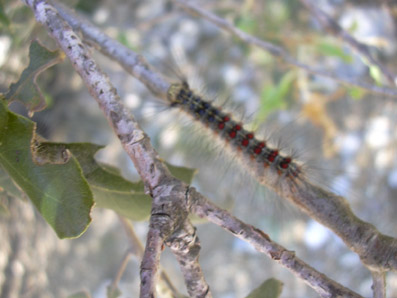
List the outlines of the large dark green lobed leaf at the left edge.
{"type": "Polygon", "coordinates": [[[91,222],[93,198],[77,160],[37,165],[31,140],[35,124],[0,100],[0,165],[27,194],[59,238],[81,235],[91,222]]]}

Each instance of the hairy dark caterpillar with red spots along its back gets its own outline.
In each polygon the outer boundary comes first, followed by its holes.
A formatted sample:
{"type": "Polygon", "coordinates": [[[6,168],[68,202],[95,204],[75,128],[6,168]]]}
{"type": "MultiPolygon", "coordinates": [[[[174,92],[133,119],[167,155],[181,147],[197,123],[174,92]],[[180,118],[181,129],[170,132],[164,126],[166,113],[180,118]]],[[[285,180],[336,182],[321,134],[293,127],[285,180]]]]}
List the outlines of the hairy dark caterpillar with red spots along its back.
{"type": "Polygon", "coordinates": [[[296,180],[303,175],[302,165],[291,156],[272,148],[266,140],[259,140],[254,133],[195,93],[186,81],[172,84],[168,90],[171,107],[179,107],[226,141],[240,155],[240,161],[261,184],[276,192],[283,180],[296,180]],[[283,179],[285,178],[285,179],[283,179]]]}

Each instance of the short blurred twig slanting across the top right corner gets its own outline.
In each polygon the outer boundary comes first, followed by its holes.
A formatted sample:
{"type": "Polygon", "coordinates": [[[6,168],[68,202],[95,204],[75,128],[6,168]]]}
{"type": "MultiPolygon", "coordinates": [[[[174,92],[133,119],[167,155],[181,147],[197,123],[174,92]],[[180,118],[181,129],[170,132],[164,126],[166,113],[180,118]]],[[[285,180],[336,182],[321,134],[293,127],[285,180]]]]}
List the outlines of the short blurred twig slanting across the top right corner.
{"type": "Polygon", "coordinates": [[[306,8],[308,8],[313,16],[318,20],[318,22],[324,27],[324,29],[334,35],[335,37],[341,39],[347,45],[349,45],[354,51],[359,55],[364,57],[370,64],[376,65],[382,74],[387,78],[387,80],[392,84],[396,84],[396,76],[389,72],[389,70],[377,61],[369,51],[368,47],[357,41],[353,36],[351,36],[347,31],[345,31],[337,22],[335,22],[328,14],[313,5],[310,0],[300,0],[306,8]]]}

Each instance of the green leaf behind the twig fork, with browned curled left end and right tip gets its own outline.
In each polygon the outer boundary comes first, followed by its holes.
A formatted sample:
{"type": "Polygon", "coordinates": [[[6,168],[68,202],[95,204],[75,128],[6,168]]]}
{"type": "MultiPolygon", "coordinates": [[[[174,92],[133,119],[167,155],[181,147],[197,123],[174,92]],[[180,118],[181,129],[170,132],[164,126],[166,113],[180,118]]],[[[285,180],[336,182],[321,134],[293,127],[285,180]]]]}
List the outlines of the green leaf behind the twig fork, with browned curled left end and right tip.
{"type": "MultiPolygon", "coordinates": [[[[91,143],[39,142],[33,155],[38,164],[64,163],[68,159],[67,150],[70,151],[80,163],[97,207],[114,210],[135,221],[146,220],[150,215],[152,199],[145,194],[143,183],[130,182],[121,176],[119,169],[97,162],[94,156],[102,148],[91,143]]],[[[195,170],[167,166],[174,176],[191,183],[195,170]]]]}

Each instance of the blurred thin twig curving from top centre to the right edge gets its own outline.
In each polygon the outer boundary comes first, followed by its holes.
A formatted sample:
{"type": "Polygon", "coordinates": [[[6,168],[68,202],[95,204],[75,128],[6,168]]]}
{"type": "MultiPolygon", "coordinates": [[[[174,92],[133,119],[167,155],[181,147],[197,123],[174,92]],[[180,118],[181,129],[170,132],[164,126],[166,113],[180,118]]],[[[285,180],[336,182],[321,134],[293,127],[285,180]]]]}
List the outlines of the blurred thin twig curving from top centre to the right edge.
{"type": "Polygon", "coordinates": [[[252,35],[249,35],[243,31],[237,29],[230,22],[218,17],[217,15],[215,15],[211,12],[208,12],[208,11],[202,9],[201,7],[199,7],[196,3],[192,2],[192,1],[173,0],[173,2],[175,2],[177,5],[182,7],[187,13],[189,13],[193,16],[202,17],[202,18],[210,21],[214,25],[231,33],[232,35],[234,35],[235,37],[244,41],[245,43],[257,46],[257,47],[265,50],[266,52],[270,53],[271,55],[284,60],[287,64],[290,64],[295,67],[299,67],[299,68],[304,69],[312,74],[330,78],[332,80],[338,81],[345,85],[363,88],[363,89],[365,89],[369,92],[372,92],[372,93],[379,93],[379,94],[383,94],[383,95],[391,96],[391,97],[397,96],[396,89],[383,87],[383,86],[381,87],[381,86],[371,85],[371,84],[359,82],[359,81],[349,79],[349,78],[341,78],[337,74],[333,74],[328,70],[324,71],[321,69],[316,69],[316,68],[313,68],[312,66],[304,64],[302,62],[299,62],[283,48],[281,48],[277,45],[274,45],[268,41],[263,41],[257,37],[254,37],[252,35]]]}

